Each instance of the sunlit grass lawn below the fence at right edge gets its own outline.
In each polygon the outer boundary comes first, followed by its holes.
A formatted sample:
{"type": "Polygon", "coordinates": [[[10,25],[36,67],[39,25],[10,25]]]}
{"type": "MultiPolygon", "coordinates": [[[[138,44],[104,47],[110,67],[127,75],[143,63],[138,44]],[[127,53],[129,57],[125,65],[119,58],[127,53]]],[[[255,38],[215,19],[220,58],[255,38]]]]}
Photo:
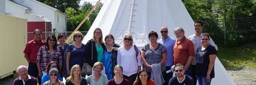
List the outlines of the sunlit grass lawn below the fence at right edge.
{"type": "Polygon", "coordinates": [[[218,47],[217,57],[224,67],[256,68],[256,44],[249,43],[238,47],[218,47]]]}

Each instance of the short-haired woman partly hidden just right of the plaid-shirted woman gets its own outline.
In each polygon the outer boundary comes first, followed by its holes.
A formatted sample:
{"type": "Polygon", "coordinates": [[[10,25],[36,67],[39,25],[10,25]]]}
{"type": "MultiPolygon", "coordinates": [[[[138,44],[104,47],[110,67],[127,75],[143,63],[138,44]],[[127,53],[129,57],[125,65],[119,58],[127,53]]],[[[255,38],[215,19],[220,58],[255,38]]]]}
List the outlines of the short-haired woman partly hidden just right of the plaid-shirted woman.
{"type": "Polygon", "coordinates": [[[67,47],[69,46],[69,43],[66,43],[66,34],[65,33],[59,33],[57,39],[59,40],[59,43],[57,43],[57,46],[60,49],[61,57],[63,60],[63,66],[60,71],[60,76],[67,78],[67,69],[66,69],[66,56],[67,56],[67,47]]]}

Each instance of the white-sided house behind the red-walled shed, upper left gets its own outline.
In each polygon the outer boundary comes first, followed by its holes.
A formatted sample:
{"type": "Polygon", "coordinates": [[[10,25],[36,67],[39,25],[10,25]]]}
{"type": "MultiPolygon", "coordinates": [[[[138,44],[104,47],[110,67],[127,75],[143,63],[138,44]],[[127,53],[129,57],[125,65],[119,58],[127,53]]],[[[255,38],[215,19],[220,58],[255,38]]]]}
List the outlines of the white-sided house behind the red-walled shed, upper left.
{"type": "Polygon", "coordinates": [[[52,22],[52,31],[66,30],[66,19],[69,17],[44,3],[36,0],[5,0],[5,13],[8,15],[34,14],[46,17],[52,22]]]}

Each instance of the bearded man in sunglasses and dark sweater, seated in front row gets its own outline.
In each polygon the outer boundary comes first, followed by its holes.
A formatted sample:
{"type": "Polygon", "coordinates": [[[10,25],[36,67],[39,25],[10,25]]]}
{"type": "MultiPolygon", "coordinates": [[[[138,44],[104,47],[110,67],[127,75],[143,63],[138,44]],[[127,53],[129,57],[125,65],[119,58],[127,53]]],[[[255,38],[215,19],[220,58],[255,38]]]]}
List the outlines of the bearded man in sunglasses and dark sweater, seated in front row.
{"type": "Polygon", "coordinates": [[[188,75],[184,75],[185,71],[186,70],[182,64],[176,64],[176,76],[170,79],[169,85],[194,85],[193,79],[188,75]]]}

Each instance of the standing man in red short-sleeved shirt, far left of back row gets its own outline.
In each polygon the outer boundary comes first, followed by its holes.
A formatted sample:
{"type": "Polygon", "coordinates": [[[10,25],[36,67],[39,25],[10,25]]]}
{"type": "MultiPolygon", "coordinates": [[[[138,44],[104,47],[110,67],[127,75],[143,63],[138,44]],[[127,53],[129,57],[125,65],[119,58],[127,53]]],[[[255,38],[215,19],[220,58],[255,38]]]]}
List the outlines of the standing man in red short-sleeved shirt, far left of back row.
{"type": "Polygon", "coordinates": [[[45,41],[42,40],[42,31],[41,30],[36,29],[33,32],[33,35],[34,35],[34,39],[26,44],[26,47],[25,47],[23,53],[25,53],[24,57],[29,62],[28,75],[33,76],[35,78],[38,77],[38,84],[41,85],[42,75],[38,76],[39,72],[38,72],[36,61],[37,61],[37,55],[38,55],[39,48],[41,46],[45,45],[45,41]]]}

